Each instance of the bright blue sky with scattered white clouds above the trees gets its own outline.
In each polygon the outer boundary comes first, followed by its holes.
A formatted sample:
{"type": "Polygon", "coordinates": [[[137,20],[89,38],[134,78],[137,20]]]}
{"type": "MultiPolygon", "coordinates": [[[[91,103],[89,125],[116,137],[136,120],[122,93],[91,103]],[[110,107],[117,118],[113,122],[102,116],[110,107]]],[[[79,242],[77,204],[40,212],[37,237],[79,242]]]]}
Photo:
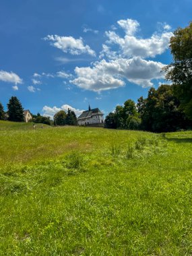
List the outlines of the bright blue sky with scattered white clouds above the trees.
{"type": "Polygon", "coordinates": [[[1,0],[0,102],[34,114],[100,108],[146,97],[172,57],[172,32],[191,0],[1,0]]]}

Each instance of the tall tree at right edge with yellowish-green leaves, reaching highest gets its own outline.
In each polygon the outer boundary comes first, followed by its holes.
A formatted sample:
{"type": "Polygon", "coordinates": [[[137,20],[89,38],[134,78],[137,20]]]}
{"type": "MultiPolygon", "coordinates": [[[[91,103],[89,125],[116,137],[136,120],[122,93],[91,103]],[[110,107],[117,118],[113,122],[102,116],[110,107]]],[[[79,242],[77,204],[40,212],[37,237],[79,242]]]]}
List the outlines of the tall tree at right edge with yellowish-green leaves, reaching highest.
{"type": "Polygon", "coordinates": [[[173,61],[164,68],[166,79],[174,84],[174,95],[181,102],[181,109],[192,120],[192,22],[178,28],[170,38],[173,61]]]}

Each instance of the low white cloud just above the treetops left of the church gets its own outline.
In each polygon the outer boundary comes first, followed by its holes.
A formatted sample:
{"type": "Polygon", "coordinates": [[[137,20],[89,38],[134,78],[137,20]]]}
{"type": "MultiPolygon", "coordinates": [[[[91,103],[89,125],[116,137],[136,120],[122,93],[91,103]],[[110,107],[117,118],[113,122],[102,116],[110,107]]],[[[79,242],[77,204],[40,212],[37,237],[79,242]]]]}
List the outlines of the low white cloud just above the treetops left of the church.
{"type": "Polygon", "coordinates": [[[73,106],[70,106],[68,104],[64,104],[60,108],[58,108],[57,106],[53,106],[53,108],[51,108],[51,106],[44,106],[42,108],[42,113],[44,116],[51,117],[51,119],[53,119],[54,115],[60,110],[64,110],[67,113],[68,108],[74,111],[77,117],[81,115],[82,112],[84,111],[84,110],[79,110],[78,108],[73,108],[73,106]]]}

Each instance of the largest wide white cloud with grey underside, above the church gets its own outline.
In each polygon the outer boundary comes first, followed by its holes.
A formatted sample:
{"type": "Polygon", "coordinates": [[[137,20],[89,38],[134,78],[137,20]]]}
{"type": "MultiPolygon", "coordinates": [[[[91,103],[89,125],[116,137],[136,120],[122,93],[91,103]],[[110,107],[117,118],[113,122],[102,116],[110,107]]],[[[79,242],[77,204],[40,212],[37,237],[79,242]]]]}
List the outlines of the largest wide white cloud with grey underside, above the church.
{"type": "Polygon", "coordinates": [[[146,61],[139,57],[132,59],[102,60],[93,67],[75,67],[77,78],[70,82],[86,90],[100,92],[125,86],[124,79],[142,86],[152,86],[152,79],[163,77],[164,65],[155,61],[146,61]]]}

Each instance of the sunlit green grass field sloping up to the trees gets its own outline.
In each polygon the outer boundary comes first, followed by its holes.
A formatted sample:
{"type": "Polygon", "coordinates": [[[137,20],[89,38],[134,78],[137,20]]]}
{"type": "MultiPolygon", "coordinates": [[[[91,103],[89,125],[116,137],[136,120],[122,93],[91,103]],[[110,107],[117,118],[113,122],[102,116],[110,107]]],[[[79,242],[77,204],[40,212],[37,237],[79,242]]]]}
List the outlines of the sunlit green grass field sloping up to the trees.
{"type": "Polygon", "coordinates": [[[192,132],[0,121],[0,255],[192,255],[192,132]]]}

